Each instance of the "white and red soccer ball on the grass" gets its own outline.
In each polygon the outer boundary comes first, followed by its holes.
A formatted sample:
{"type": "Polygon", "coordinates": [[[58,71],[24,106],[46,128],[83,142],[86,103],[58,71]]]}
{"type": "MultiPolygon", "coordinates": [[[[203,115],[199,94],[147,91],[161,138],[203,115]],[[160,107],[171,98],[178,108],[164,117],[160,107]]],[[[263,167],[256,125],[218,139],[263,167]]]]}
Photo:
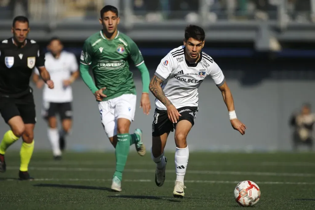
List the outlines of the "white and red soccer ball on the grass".
{"type": "Polygon", "coordinates": [[[234,189],[235,201],[241,206],[254,206],[260,199],[260,189],[252,181],[238,183],[234,189]]]}

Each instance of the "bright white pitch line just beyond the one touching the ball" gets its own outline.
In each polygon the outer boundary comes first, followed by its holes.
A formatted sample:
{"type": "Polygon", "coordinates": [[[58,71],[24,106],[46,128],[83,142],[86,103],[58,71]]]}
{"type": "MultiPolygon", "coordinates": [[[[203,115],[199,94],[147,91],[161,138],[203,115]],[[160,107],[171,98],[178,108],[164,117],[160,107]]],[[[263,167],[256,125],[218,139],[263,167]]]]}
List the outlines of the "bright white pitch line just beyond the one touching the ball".
{"type": "MultiPolygon", "coordinates": [[[[70,167],[28,167],[29,170],[37,171],[87,171],[87,172],[113,172],[114,168],[70,168],[70,167]]],[[[18,170],[19,167],[8,166],[7,170],[18,170]]],[[[155,169],[125,169],[124,172],[155,173],[155,169]]],[[[166,170],[166,173],[174,173],[174,170],[166,170]]],[[[315,177],[312,173],[281,173],[281,172],[244,172],[244,171],[199,171],[187,170],[191,174],[215,174],[215,175],[253,175],[253,176],[276,176],[276,177],[315,177]]]]}

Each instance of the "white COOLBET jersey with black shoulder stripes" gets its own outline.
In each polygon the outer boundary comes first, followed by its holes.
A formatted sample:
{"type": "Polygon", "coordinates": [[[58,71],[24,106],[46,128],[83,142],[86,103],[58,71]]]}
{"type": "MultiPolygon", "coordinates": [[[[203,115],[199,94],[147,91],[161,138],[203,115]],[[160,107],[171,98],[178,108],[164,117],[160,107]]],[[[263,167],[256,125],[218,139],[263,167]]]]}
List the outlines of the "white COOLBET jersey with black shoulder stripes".
{"type": "MultiPolygon", "coordinates": [[[[185,59],[185,46],[171,50],[161,60],[154,75],[163,80],[163,92],[177,109],[186,106],[198,107],[198,87],[207,76],[210,76],[218,87],[225,81],[221,68],[204,52],[200,53],[196,63],[189,63],[185,59]]],[[[166,110],[157,98],[155,106],[166,110]]]]}

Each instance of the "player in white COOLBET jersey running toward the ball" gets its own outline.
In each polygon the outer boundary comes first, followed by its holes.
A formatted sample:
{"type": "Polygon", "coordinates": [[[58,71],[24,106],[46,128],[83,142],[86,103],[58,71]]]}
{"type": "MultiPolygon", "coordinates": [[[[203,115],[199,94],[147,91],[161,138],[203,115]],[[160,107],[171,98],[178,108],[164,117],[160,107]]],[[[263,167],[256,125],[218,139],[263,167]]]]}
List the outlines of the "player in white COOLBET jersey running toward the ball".
{"type": "Polygon", "coordinates": [[[220,67],[202,52],[205,34],[201,27],[186,27],[184,45],[171,50],[158,65],[150,82],[150,90],[156,97],[152,124],[152,160],[156,163],[155,183],[162,186],[165,180],[167,158],[164,148],[167,137],[175,129],[176,180],[173,195],[183,198],[184,176],[188,164],[189,150],[186,137],[194,125],[198,112],[198,87],[210,76],[221,90],[235,130],[245,134],[246,126],[235,114],[231,91],[220,67]]]}

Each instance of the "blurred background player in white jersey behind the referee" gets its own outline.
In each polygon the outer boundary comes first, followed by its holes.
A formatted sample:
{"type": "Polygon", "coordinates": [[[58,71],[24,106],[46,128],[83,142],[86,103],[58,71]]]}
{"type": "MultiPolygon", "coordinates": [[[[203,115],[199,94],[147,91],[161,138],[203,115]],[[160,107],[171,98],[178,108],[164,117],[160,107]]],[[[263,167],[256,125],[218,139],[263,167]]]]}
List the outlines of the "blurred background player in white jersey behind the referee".
{"type": "MultiPolygon", "coordinates": [[[[65,149],[65,137],[72,128],[72,88],[71,84],[78,78],[78,63],[73,53],[63,50],[59,38],[52,38],[47,46],[49,52],[45,55],[45,64],[51,78],[55,81],[55,88],[43,89],[43,117],[48,121],[48,138],[53,150],[55,160],[61,159],[62,150],[65,149]],[[61,120],[61,129],[58,131],[56,114],[61,120]]],[[[38,70],[35,69],[33,81],[38,88],[44,83],[39,79],[38,70]]]]}

